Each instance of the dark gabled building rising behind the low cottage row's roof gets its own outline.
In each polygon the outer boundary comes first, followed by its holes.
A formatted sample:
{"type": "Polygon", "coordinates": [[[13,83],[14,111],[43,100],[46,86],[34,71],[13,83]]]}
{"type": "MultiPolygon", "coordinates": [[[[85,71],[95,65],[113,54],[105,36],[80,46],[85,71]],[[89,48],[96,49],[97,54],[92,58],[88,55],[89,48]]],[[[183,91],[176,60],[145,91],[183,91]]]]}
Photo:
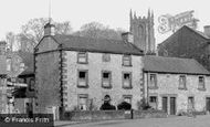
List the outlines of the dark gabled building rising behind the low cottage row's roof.
{"type": "Polygon", "coordinates": [[[158,44],[158,55],[195,59],[210,71],[210,25],[203,32],[182,27],[158,44]]]}

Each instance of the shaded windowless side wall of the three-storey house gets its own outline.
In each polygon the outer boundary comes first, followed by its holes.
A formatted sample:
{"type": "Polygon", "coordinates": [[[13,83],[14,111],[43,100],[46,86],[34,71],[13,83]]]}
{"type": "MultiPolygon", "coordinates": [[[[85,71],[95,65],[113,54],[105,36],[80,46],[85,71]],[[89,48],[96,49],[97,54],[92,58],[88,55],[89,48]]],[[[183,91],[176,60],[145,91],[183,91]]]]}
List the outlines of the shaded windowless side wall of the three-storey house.
{"type": "Polygon", "coordinates": [[[42,53],[35,56],[36,112],[61,105],[60,52],[42,53]]]}

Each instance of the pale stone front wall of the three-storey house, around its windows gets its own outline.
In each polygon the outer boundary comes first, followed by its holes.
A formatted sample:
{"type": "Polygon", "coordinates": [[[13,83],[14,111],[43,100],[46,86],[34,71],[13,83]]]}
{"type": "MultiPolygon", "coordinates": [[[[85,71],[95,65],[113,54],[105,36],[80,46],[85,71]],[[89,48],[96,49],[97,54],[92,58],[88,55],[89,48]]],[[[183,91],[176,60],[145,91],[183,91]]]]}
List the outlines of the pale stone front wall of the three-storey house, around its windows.
{"type": "Polygon", "coordinates": [[[93,105],[98,109],[103,104],[103,98],[108,94],[112,98],[112,104],[117,105],[123,99],[123,95],[132,95],[132,106],[137,109],[137,102],[143,98],[143,62],[141,56],[132,55],[132,66],[122,65],[122,54],[111,54],[111,62],[103,62],[103,53],[88,52],[88,64],[77,63],[77,52],[65,51],[64,70],[66,74],[66,110],[72,110],[77,106],[78,95],[87,94],[88,99],[93,100],[93,105]],[[88,70],[88,87],[77,87],[77,70],[88,70]],[[102,87],[102,71],[112,72],[112,88],[102,87]],[[123,72],[132,72],[130,89],[122,87],[123,72]]]}

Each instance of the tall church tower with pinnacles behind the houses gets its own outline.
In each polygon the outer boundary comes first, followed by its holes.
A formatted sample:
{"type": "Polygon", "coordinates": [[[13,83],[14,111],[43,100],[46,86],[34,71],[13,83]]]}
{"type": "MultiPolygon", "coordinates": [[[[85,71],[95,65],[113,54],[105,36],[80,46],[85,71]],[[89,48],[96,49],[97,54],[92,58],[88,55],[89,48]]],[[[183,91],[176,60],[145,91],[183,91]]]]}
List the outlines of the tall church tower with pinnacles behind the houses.
{"type": "Polygon", "coordinates": [[[136,12],[129,14],[129,31],[134,35],[134,44],[141,49],[145,54],[156,54],[156,42],[154,32],[154,12],[148,10],[148,15],[137,17],[136,12]]]}

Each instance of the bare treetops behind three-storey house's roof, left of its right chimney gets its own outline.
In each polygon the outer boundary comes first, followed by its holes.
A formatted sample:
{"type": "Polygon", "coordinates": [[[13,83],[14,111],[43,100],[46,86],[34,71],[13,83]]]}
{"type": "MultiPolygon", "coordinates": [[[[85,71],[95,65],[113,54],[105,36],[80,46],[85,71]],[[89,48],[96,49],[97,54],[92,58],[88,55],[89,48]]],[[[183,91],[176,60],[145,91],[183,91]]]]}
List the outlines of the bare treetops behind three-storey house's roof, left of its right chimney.
{"type": "Polygon", "coordinates": [[[94,38],[94,39],[114,39],[120,40],[122,29],[109,29],[99,22],[90,22],[81,27],[74,35],[94,38]]]}

